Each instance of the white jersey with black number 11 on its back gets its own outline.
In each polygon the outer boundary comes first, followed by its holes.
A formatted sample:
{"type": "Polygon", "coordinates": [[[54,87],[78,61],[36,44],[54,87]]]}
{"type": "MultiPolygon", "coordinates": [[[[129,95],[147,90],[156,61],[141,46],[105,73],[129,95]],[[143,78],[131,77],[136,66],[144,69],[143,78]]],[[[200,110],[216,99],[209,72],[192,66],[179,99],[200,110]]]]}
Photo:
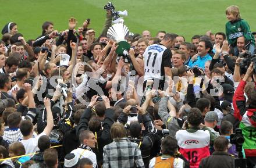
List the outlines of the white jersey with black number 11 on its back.
{"type": "Polygon", "coordinates": [[[145,49],[144,57],[144,81],[153,78],[161,79],[162,56],[166,47],[153,44],[145,49]]]}

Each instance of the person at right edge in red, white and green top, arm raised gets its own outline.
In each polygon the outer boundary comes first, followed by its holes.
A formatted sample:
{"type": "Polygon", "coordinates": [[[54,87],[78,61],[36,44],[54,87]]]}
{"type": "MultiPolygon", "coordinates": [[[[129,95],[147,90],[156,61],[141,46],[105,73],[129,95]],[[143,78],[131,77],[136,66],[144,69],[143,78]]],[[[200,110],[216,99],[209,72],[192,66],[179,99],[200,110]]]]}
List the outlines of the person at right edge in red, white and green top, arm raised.
{"type": "Polygon", "coordinates": [[[254,63],[251,62],[250,67],[247,69],[243,80],[240,81],[233,98],[234,117],[239,119],[239,127],[243,131],[245,139],[243,148],[246,153],[248,167],[253,167],[256,164],[256,89],[254,88],[254,90],[251,91],[250,95],[248,95],[248,101],[246,102],[246,98],[244,97],[244,87],[246,86],[248,78],[252,75],[254,80],[256,80],[254,66],[254,63]]]}

